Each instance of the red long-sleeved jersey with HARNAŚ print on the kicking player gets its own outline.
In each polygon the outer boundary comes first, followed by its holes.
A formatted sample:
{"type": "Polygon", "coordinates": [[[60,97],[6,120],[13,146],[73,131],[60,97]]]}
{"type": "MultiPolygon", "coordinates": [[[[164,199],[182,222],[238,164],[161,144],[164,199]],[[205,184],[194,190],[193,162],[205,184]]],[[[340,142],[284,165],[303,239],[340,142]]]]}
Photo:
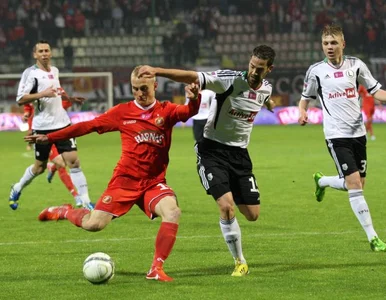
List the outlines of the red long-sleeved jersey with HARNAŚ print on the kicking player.
{"type": "Polygon", "coordinates": [[[122,154],[109,187],[135,189],[165,179],[173,126],[198,112],[200,101],[188,105],[155,101],[142,108],[136,101],[118,104],[91,121],[80,122],[48,134],[49,142],[96,131],[120,131],[122,154]],[[135,185],[135,186],[133,186],[135,185]]]}

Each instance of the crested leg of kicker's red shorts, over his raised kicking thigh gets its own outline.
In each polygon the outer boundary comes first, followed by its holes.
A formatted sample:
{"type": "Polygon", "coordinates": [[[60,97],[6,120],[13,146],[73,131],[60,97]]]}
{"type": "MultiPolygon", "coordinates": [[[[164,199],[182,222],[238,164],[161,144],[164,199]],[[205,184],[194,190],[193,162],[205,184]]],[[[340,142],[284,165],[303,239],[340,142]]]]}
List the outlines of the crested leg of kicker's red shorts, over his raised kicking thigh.
{"type": "Polygon", "coordinates": [[[118,218],[130,211],[141,197],[142,193],[140,191],[107,188],[95,204],[94,210],[102,211],[113,218],[118,218]]]}

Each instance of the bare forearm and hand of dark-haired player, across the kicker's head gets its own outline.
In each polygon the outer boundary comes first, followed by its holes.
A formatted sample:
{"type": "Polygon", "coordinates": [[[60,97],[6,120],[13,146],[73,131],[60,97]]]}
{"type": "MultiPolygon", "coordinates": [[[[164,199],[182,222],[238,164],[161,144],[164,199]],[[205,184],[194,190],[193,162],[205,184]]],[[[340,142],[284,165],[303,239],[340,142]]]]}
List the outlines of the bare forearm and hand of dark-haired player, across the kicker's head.
{"type": "Polygon", "coordinates": [[[171,80],[183,83],[199,83],[196,71],[187,71],[179,69],[164,69],[151,66],[142,66],[139,69],[138,77],[153,78],[156,76],[166,77],[171,80]]]}

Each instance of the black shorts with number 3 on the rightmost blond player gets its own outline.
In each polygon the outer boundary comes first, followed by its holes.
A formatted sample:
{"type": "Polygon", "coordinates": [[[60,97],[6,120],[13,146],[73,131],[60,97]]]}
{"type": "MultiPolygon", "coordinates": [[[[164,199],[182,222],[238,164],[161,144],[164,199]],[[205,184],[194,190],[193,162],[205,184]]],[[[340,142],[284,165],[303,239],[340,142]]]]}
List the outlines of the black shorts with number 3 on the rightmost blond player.
{"type": "Polygon", "coordinates": [[[366,143],[365,135],[358,138],[326,140],[328,151],[340,177],[348,176],[357,171],[361,177],[366,177],[366,143]]]}

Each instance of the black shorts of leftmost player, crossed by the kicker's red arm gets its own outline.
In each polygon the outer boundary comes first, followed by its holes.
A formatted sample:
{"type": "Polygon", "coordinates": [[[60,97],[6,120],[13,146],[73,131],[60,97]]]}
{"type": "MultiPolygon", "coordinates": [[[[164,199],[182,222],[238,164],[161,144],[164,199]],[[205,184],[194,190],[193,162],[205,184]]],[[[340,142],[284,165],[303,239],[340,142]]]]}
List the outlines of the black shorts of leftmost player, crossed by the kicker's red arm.
{"type": "MultiPolygon", "coordinates": [[[[61,129],[63,128],[54,129],[54,130],[33,130],[32,134],[48,134],[61,129]]],[[[62,154],[63,152],[77,151],[75,138],[55,142],[54,144],[56,146],[56,149],[58,149],[59,154],[62,154]]],[[[48,158],[50,157],[51,147],[52,147],[52,144],[47,144],[47,145],[35,144],[35,159],[39,161],[47,161],[48,158]]]]}

